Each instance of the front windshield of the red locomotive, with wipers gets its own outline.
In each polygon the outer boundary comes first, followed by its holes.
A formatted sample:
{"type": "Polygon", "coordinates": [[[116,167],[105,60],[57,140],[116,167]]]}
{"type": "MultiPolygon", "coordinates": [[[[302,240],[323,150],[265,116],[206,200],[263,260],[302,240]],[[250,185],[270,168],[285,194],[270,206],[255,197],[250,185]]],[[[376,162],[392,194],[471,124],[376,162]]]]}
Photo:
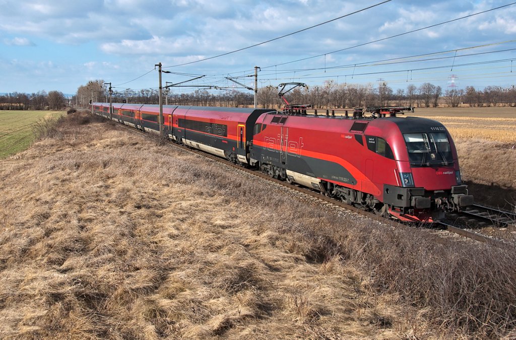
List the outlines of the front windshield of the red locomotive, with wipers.
{"type": "Polygon", "coordinates": [[[448,164],[453,162],[446,133],[405,133],[409,160],[413,165],[448,164]]]}

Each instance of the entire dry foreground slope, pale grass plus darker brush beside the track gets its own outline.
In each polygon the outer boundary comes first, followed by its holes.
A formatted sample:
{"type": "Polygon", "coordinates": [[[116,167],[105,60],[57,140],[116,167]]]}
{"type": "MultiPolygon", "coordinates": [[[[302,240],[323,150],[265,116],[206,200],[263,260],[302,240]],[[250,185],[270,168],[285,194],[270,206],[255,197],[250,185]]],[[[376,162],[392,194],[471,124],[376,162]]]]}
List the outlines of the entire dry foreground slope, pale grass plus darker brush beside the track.
{"type": "Polygon", "coordinates": [[[76,119],[0,163],[0,337],[468,338],[514,329],[512,250],[434,245],[76,119]]]}

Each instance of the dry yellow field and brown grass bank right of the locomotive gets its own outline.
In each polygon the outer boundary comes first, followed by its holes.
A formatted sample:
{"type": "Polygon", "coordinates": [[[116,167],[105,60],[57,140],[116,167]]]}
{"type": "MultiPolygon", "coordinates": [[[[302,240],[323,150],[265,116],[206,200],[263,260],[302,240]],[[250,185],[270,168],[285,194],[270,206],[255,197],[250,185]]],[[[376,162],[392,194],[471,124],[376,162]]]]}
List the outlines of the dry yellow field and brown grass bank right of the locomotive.
{"type": "Polygon", "coordinates": [[[463,179],[475,199],[503,209],[516,204],[516,108],[417,108],[454,138],[463,179]]]}

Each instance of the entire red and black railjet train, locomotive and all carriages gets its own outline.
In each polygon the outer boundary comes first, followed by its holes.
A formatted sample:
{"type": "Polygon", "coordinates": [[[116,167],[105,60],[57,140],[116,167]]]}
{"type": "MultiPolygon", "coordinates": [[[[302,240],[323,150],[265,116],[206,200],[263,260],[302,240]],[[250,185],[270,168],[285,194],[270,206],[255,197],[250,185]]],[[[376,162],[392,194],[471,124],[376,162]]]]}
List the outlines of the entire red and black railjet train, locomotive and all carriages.
{"type": "MultiPolygon", "coordinates": [[[[95,114],[159,133],[159,106],[93,103],[95,114]]],[[[402,221],[432,222],[473,204],[446,128],[412,108],[374,108],[365,117],[266,109],[163,106],[171,140],[350,205],[402,221]]],[[[328,111],[327,111],[328,112],[328,111]]]]}

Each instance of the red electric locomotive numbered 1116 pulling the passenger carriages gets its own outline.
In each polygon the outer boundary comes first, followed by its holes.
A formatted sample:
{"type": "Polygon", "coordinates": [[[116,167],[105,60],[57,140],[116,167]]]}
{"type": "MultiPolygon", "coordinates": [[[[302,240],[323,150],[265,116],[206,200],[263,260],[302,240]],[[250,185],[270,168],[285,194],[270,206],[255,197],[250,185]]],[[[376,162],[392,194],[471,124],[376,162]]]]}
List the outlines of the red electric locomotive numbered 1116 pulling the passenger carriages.
{"type": "Polygon", "coordinates": [[[267,113],[254,128],[250,164],[288,182],[400,220],[431,222],[471,205],[455,145],[426,118],[402,108],[351,117],[267,113]]]}

